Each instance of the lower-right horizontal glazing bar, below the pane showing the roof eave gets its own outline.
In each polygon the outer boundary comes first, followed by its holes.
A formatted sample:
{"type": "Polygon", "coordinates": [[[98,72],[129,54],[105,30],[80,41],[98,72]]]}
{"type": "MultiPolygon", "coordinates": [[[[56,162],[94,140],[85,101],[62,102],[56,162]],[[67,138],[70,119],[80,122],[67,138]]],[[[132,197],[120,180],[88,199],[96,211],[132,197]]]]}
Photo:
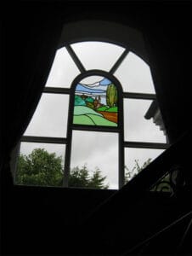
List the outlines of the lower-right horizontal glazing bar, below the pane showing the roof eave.
{"type": "Polygon", "coordinates": [[[167,149],[170,147],[167,143],[142,143],[142,142],[124,142],[125,148],[155,148],[167,149]]]}

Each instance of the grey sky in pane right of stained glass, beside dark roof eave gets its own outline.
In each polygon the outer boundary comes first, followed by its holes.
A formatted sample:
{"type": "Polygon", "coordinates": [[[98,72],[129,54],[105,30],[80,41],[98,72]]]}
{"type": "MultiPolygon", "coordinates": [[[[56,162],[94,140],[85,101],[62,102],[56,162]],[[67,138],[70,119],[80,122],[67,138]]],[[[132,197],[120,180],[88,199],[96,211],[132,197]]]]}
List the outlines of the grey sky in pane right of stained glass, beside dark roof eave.
{"type": "Polygon", "coordinates": [[[124,99],[124,132],[125,141],[166,143],[166,136],[155,125],[153,119],[145,119],[144,115],[152,101],[124,99]]]}

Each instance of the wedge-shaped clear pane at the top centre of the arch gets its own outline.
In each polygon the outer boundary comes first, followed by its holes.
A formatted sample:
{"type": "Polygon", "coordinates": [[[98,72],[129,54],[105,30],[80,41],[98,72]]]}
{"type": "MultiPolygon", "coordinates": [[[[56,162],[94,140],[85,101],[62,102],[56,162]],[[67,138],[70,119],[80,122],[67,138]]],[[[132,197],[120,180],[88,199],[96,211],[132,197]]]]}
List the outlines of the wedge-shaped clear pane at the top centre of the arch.
{"type": "Polygon", "coordinates": [[[104,42],[82,42],[71,44],[71,47],[87,70],[110,71],[124,51],[121,46],[104,42]]]}

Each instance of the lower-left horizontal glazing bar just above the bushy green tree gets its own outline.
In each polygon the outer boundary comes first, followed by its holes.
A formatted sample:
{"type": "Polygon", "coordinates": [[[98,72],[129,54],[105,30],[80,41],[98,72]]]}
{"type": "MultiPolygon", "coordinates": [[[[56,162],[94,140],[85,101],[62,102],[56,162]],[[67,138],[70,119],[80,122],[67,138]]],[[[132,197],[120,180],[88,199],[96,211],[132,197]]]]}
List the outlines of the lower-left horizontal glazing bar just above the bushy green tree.
{"type": "Polygon", "coordinates": [[[66,144],[67,139],[62,137],[36,137],[36,136],[23,136],[20,140],[22,143],[55,143],[66,144]]]}

